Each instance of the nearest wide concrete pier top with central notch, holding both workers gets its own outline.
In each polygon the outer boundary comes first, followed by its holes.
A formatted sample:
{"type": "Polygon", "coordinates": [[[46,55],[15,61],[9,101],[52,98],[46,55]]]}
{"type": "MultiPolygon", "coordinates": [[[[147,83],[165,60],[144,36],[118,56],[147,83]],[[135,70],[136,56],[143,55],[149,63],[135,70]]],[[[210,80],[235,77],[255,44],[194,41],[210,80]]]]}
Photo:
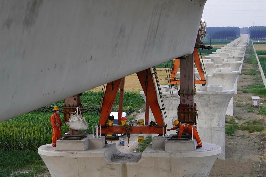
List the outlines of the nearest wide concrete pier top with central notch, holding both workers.
{"type": "Polygon", "coordinates": [[[208,176],[221,148],[203,143],[195,151],[165,151],[149,145],[143,153],[120,153],[116,144],[85,151],[38,148],[51,176],[208,176]]]}

